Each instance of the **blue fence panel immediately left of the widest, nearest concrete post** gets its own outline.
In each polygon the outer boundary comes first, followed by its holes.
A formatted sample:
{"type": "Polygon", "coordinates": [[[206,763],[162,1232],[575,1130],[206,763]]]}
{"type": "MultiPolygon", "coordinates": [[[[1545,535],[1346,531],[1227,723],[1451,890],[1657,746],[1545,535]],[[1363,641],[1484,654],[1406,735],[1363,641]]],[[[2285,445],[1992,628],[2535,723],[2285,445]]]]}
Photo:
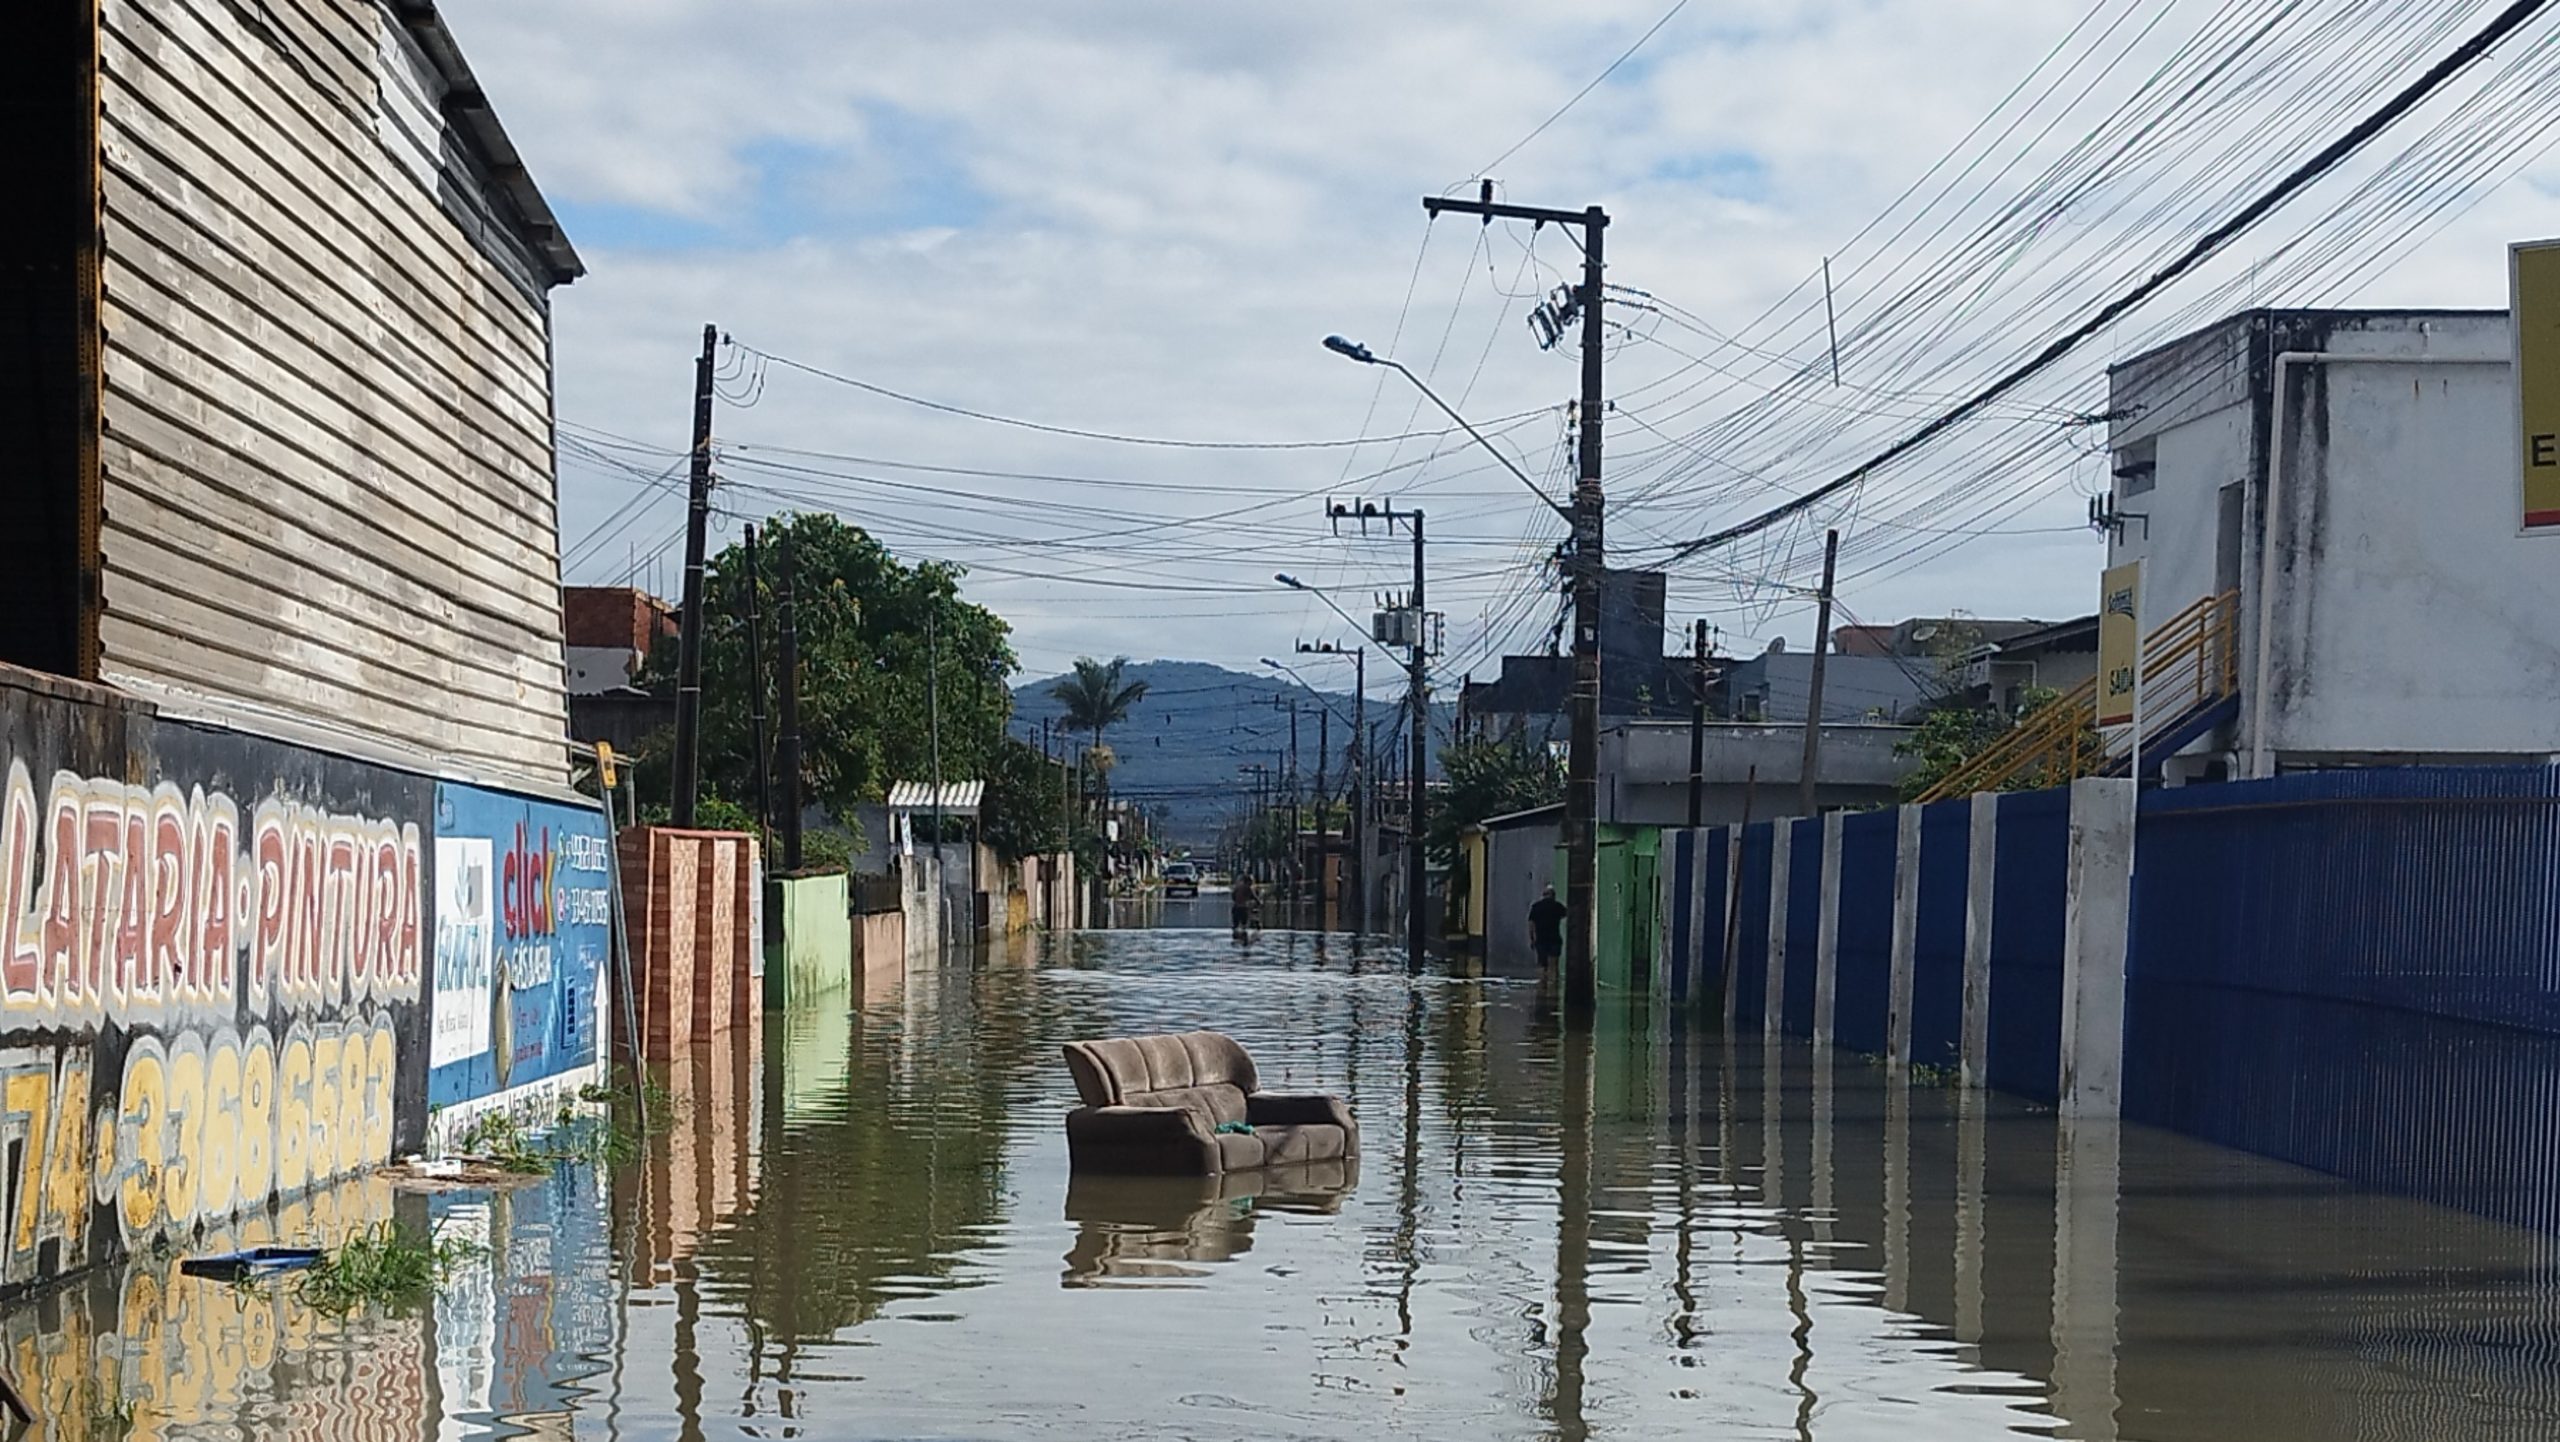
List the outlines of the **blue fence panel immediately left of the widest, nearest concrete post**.
{"type": "Polygon", "coordinates": [[[2063,876],[2071,858],[2071,791],[1999,799],[1992,871],[1989,1081],[2053,1101],[2063,1058],[2063,876]]]}

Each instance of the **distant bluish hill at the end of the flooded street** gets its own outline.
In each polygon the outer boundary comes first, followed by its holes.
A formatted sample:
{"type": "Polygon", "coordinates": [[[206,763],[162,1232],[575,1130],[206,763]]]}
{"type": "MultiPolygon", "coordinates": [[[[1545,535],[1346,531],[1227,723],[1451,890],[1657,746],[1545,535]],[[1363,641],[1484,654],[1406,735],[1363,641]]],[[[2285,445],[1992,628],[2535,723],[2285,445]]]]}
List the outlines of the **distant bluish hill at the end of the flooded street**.
{"type": "MultiPolygon", "coordinates": [[[[1341,789],[1347,748],[1352,743],[1349,717],[1354,715],[1349,668],[1318,661],[1300,666],[1308,679],[1329,679],[1326,671],[1344,671],[1339,692],[1324,692],[1334,707],[1331,753],[1326,756],[1326,786],[1341,789]]],[[[1370,727],[1385,745],[1400,712],[1385,686],[1377,684],[1380,663],[1370,658],[1370,727]]],[[[1206,661],[1132,661],[1129,681],[1147,681],[1129,720],[1111,727],[1103,743],[1119,756],[1111,774],[1111,791],[1129,799],[1147,799],[1165,807],[1167,835],[1183,845],[1208,845],[1219,830],[1252,804],[1254,779],[1244,766],[1283,766],[1288,756],[1288,697],[1298,697],[1298,771],[1308,786],[1316,784],[1318,707],[1306,686],[1288,676],[1229,671],[1206,661]],[[1280,702],[1280,707],[1275,707],[1280,702]]],[[[1400,674],[1395,674],[1400,681],[1400,674]]],[[[1042,676],[1014,686],[1014,735],[1037,740],[1039,722],[1057,720],[1057,702],[1050,686],[1057,676],[1042,676]]],[[[1434,707],[1434,753],[1449,735],[1449,707],[1434,707]]],[[[1075,738],[1083,745],[1083,735],[1075,738]]]]}

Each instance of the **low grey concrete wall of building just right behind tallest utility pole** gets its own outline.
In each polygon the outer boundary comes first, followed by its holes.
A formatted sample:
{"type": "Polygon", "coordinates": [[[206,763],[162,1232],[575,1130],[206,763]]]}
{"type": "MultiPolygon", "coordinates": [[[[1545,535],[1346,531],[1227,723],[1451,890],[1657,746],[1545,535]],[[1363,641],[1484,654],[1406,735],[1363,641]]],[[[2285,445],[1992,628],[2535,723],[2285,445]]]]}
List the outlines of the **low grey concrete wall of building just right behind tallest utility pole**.
{"type": "MultiPolygon", "coordinates": [[[[1912,763],[1894,756],[1900,725],[1823,727],[1823,786],[1815,807],[1876,807],[1900,799],[1912,763]]],[[[1802,725],[1708,722],[1708,825],[1795,814],[1805,771],[1802,725]],[[1756,779],[1754,779],[1756,771],[1756,779]]],[[[1600,733],[1600,820],[1677,827],[1690,820],[1690,725],[1641,722],[1600,733]]]]}

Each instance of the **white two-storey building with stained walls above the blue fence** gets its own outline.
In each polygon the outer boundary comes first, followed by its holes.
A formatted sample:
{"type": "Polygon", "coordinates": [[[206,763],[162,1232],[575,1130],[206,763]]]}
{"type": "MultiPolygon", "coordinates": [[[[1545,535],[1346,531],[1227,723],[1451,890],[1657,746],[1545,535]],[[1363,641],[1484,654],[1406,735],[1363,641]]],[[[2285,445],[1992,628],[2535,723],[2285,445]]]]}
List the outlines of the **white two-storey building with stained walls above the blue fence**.
{"type": "Polygon", "coordinates": [[[2109,371],[2145,630],[2237,592],[2237,715],[2173,779],[2560,753],[2511,407],[2493,310],[2253,310],[2109,371]]]}

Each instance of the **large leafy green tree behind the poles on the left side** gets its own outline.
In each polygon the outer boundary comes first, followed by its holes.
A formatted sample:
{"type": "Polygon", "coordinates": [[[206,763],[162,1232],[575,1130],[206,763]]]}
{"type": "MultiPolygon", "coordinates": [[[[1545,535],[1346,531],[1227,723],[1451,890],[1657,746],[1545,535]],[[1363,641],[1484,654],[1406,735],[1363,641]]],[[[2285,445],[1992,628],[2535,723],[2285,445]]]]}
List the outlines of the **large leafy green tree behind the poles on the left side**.
{"type": "MultiPolygon", "coordinates": [[[[878,802],[891,781],[927,779],[937,709],[942,776],[993,781],[1011,745],[1004,730],[1014,707],[1006,692],[1011,630],[996,612],[960,599],[960,571],[934,561],[909,566],[832,515],[776,515],[760,540],[763,674],[748,658],[745,546],[719,551],[704,571],[704,794],[753,814],[758,689],[765,694],[768,748],[781,725],[776,676],[786,553],[796,574],[804,797],[832,814],[850,814],[863,802],[878,802]]],[[[673,681],[676,640],[668,638],[650,656],[643,684],[673,689],[673,681]]],[[[666,797],[668,784],[668,745],[660,740],[648,748],[640,786],[645,797],[666,797]]]]}

